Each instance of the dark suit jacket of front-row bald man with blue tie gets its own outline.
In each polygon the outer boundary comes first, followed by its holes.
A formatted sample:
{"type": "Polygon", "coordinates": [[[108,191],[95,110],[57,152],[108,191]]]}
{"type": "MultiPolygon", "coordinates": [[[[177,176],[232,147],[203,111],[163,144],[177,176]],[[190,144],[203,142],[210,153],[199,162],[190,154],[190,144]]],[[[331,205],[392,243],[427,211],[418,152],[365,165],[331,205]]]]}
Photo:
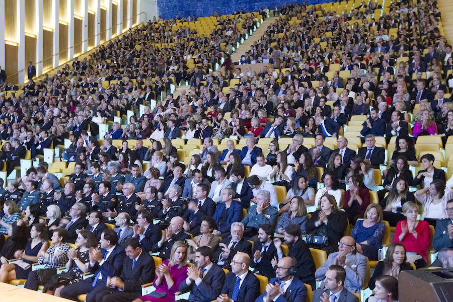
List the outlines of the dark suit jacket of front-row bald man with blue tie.
{"type": "MultiPolygon", "coordinates": [[[[229,272],[226,274],[225,284],[221,290],[222,294],[228,295],[230,298],[233,295],[233,289],[235,288],[236,274],[229,272]]],[[[253,274],[253,272],[247,272],[244,281],[239,288],[238,298],[235,302],[254,302],[260,295],[260,281],[253,274]]]]}

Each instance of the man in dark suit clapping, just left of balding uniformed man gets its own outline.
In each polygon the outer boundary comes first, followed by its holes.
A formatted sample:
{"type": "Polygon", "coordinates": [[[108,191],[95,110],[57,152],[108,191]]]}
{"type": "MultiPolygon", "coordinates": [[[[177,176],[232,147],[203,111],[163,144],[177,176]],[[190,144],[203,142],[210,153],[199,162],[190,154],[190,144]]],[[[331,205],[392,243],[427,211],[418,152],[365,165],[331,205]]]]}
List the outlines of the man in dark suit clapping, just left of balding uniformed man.
{"type": "Polygon", "coordinates": [[[151,251],[162,236],[160,226],[153,224],[153,216],[145,210],[138,212],[133,233],[133,237],[138,238],[140,248],[145,252],[151,251]]]}

